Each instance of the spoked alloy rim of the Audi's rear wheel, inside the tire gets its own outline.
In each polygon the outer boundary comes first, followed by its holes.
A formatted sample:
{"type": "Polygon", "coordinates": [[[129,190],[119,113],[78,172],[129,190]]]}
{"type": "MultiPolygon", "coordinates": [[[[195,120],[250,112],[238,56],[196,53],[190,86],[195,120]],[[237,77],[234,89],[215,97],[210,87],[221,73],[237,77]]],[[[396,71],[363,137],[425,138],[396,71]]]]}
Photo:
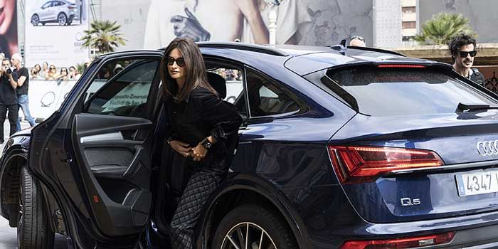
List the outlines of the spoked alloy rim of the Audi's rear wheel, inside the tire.
{"type": "Polygon", "coordinates": [[[220,249],[277,249],[271,236],[255,223],[233,226],[223,238],[220,249]]]}

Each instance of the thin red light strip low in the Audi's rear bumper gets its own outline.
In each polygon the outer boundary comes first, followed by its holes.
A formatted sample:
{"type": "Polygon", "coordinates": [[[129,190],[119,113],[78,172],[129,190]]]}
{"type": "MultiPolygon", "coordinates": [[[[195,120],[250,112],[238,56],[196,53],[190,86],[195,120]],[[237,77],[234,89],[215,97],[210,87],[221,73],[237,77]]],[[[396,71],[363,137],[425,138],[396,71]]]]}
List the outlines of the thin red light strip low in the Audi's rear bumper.
{"type": "Polygon", "coordinates": [[[418,248],[450,243],[453,237],[455,237],[455,232],[390,240],[351,240],[342,244],[341,249],[418,248]]]}

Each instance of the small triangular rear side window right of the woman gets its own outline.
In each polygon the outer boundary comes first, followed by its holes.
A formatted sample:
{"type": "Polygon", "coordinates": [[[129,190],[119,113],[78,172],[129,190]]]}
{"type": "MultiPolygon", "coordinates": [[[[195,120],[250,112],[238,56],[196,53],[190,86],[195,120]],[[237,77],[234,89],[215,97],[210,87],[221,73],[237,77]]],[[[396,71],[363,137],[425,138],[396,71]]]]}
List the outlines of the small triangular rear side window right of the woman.
{"type": "Polygon", "coordinates": [[[255,70],[246,70],[250,115],[262,117],[297,112],[300,105],[280,85],[255,70]]]}

